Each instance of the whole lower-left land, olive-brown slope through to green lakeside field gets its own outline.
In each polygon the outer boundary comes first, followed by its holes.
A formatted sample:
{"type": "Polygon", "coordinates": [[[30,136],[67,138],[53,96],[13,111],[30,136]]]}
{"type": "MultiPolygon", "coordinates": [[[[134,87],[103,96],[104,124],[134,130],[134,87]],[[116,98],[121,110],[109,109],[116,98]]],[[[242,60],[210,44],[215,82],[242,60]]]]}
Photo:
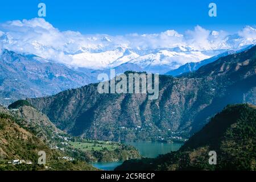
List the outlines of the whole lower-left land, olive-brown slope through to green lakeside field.
{"type": "Polygon", "coordinates": [[[30,106],[7,110],[0,106],[0,170],[95,170],[89,162],[139,158],[131,146],[86,140],[57,129],[46,115],[30,106]],[[47,153],[48,168],[38,166],[38,151],[47,153]],[[62,159],[63,157],[73,160],[62,159]],[[11,160],[33,164],[9,164],[11,160]]]}

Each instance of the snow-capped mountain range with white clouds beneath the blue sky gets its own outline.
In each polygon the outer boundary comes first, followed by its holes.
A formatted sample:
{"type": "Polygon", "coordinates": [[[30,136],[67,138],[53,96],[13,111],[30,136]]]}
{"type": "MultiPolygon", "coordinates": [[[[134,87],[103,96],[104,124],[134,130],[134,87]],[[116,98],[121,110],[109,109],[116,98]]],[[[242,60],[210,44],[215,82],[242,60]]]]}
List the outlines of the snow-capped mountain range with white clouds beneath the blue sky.
{"type": "Polygon", "coordinates": [[[110,36],[60,31],[41,18],[0,24],[0,48],[34,54],[71,68],[106,69],[133,63],[144,71],[163,74],[255,43],[256,30],[250,26],[232,35],[196,26],[184,34],[167,30],[110,36]]]}

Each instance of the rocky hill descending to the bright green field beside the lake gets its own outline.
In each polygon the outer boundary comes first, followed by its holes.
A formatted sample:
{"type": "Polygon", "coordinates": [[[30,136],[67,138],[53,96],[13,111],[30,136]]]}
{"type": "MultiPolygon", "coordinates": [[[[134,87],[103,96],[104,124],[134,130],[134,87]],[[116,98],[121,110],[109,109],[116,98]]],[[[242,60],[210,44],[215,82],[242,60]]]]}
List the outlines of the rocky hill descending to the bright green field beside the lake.
{"type": "MultiPolygon", "coordinates": [[[[15,103],[18,103],[15,104],[15,107],[9,107],[13,108],[11,110],[0,107],[0,113],[8,115],[13,119],[15,125],[31,133],[31,135],[46,145],[48,149],[52,148],[50,151],[55,151],[60,157],[69,156],[88,163],[113,162],[140,157],[139,152],[131,146],[72,137],[64,131],[57,129],[46,115],[40,113],[34,107],[28,106],[26,102],[17,101],[15,103]]],[[[13,137],[10,137],[10,139],[13,137]]],[[[17,143],[14,143],[14,146],[17,146],[17,143]]],[[[12,152],[16,152],[15,150],[16,148],[12,148],[12,152]]],[[[11,158],[14,159],[15,157],[12,156],[11,158]]],[[[24,156],[22,155],[22,157],[24,156]]],[[[17,158],[21,157],[17,156],[17,158]]],[[[58,164],[58,161],[56,160],[54,163],[58,164]]],[[[78,164],[82,163],[76,163],[74,167],[77,168],[78,164]]]]}

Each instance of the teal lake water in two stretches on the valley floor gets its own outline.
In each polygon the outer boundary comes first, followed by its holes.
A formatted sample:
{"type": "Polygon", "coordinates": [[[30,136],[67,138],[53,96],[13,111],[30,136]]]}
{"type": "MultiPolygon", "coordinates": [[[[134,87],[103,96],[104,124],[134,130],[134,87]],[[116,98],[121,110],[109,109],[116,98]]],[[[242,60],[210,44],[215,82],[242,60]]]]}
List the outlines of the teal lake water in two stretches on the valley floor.
{"type": "MultiPolygon", "coordinates": [[[[160,154],[167,154],[171,151],[177,151],[183,143],[162,143],[162,142],[126,142],[138,149],[139,154],[144,158],[155,158],[160,154]]],[[[115,167],[121,165],[122,162],[108,162],[108,163],[92,163],[98,169],[105,171],[112,171],[115,167]]]]}

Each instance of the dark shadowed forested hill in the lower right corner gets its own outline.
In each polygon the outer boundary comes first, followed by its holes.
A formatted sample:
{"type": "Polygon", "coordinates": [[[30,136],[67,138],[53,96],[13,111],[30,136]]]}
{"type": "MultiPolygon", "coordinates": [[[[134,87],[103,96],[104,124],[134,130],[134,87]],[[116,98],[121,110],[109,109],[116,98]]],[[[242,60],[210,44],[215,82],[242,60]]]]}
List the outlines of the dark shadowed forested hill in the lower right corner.
{"type": "Polygon", "coordinates": [[[256,170],[255,141],[256,107],[228,106],[179,151],[129,160],[116,170],[256,170]],[[216,165],[208,163],[209,151],[216,151],[216,165]]]}

